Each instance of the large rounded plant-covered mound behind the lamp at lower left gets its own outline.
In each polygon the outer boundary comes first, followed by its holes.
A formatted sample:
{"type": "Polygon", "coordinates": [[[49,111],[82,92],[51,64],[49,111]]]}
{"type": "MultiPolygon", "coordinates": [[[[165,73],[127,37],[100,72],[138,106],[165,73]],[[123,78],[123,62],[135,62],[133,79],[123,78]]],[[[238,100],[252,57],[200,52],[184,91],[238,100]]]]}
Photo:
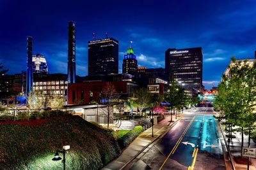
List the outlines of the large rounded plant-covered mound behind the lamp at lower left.
{"type": "Polygon", "coordinates": [[[100,169],[120,155],[111,134],[78,116],[57,117],[35,127],[0,124],[0,169],[62,169],[51,159],[63,142],[67,169],[100,169]]]}

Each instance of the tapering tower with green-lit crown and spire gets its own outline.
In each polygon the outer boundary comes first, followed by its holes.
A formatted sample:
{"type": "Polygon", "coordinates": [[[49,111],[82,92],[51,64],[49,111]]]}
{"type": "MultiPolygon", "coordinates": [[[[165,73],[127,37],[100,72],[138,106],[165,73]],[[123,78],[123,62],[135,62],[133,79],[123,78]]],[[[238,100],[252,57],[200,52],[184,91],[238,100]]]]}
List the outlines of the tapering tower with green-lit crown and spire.
{"type": "Polygon", "coordinates": [[[136,76],[138,73],[138,64],[136,55],[133,53],[131,46],[127,50],[127,54],[124,55],[123,60],[123,73],[131,74],[136,76]]]}

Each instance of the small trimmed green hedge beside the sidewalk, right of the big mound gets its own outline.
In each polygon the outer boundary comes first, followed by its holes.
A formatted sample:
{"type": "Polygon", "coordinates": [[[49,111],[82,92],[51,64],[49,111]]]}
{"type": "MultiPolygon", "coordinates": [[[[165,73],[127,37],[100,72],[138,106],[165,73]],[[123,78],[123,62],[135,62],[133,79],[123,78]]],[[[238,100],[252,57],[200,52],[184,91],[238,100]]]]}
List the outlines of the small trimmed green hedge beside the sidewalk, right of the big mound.
{"type": "Polygon", "coordinates": [[[118,145],[121,149],[126,148],[139,134],[143,131],[143,127],[138,125],[132,129],[132,131],[127,132],[122,138],[117,139],[118,145]]]}

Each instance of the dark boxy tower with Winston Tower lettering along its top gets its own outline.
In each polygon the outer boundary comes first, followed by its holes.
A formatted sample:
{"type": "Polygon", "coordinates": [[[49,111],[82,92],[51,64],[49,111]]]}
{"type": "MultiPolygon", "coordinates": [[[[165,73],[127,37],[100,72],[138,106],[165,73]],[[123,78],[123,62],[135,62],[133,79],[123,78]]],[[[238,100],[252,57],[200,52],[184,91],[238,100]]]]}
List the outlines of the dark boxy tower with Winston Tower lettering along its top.
{"type": "Polygon", "coordinates": [[[88,75],[118,73],[118,41],[114,38],[88,41],[88,75]]]}

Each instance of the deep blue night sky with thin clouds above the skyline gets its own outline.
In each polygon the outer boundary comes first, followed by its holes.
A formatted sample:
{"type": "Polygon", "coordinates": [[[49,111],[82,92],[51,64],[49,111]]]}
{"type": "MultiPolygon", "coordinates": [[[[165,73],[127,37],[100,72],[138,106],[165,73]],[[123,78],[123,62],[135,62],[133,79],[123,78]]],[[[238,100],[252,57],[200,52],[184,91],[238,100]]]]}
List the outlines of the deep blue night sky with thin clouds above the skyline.
{"type": "Polygon", "coordinates": [[[0,0],[0,62],[8,74],[26,70],[26,36],[45,55],[49,73],[67,73],[67,22],[76,22],[76,71],[88,73],[88,41],[119,41],[119,72],[132,47],[139,66],[164,67],[167,48],[202,46],[203,81],[218,84],[231,56],[254,58],[256,1],[0,0]]]}

